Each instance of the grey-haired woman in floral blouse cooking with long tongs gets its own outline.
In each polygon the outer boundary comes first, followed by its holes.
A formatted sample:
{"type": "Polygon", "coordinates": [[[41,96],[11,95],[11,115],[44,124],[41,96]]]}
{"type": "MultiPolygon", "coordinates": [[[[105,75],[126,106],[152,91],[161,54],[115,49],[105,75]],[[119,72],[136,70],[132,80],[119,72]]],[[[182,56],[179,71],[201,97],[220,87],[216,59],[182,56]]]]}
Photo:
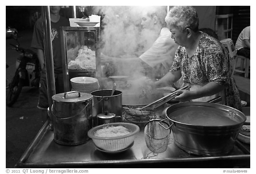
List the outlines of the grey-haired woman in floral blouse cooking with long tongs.
{"type": "Polygon", "coordinates": [[[179,101],[208,101],[218,95],[223,103],[240,109],[241,101],[229,54],[213,37],[198,30],[199,19],[191,6],[175,6],[170,9],[165,22],[172,32],[172,39],[180,45],[176,50],[170,71],[153,86],[173,84],[180,77],[191,86],[175,97],[179,101]]]}

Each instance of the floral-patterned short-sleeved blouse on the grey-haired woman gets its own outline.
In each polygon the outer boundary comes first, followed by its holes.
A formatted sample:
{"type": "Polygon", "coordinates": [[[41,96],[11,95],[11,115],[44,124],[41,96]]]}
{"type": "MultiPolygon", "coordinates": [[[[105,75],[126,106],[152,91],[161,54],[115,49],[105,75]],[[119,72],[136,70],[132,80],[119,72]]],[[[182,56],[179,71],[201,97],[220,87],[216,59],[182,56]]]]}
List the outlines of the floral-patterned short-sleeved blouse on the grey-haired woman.
{"type": "Polygon", "coordinates": [[[215,38],[201,32],[200,42],[190,58],[185,47],[179,46],[170,71],[176,70],[181,71],[184,83],[206,84],[214,81],[224,85],[226,105],[241,108],[240,95],[232,77],[230,56],[215,38]]]}

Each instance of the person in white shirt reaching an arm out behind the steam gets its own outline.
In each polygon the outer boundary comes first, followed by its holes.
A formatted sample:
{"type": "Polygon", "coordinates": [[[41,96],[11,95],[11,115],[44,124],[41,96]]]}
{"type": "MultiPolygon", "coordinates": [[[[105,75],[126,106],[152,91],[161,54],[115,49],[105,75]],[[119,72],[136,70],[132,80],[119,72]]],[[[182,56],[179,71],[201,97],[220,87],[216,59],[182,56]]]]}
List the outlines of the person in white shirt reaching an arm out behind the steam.
{"type": "Polygon", "coordinates": [[[171,38],[172,34],[166,27],[166,23],[164,22],[165,15],[166,10],[164,9],[143,13],[141,17],[141,26],[144,29],[158,32],[159,37],[153,45],[139,57],[116,58],[102,55],[101,61],[113,63],[126,62],[137,65],[141,64],[142,67],[150,66],[151,68],[149,71],[153,71],[152,73],[156,74],[156,78],[160,78],[164,74],[168,73],[172,66],[178,45],[174,43],[171,38]]]}

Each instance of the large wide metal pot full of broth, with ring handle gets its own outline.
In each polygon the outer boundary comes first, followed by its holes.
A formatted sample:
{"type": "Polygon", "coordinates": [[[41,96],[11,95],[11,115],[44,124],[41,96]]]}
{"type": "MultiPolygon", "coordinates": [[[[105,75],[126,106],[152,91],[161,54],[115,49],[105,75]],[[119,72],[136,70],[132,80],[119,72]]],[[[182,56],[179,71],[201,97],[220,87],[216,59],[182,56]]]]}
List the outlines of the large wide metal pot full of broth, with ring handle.
{"type": "Polygon", "coordinates": [[[166,118],[175,143],[195,155],[224,155],[232,151],[246,117],[234,108],[207,102],[170,106],[166,118]]]}

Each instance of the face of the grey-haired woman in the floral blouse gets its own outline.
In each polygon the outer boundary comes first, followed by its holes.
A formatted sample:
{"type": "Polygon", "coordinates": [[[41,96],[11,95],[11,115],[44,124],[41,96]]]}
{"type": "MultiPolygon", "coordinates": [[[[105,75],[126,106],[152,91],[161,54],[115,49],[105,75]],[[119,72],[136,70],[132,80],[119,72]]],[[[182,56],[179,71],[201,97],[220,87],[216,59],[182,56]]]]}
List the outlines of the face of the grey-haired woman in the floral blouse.
{"type": "Polygon", "coordinates": [[[170,25],[168,28],[172,33],[172,39],[174,39],[174,42],[180,46],[185,46],[187,43],[187,33],[180,31],[179,28],[173,25],[170,25]]]}

